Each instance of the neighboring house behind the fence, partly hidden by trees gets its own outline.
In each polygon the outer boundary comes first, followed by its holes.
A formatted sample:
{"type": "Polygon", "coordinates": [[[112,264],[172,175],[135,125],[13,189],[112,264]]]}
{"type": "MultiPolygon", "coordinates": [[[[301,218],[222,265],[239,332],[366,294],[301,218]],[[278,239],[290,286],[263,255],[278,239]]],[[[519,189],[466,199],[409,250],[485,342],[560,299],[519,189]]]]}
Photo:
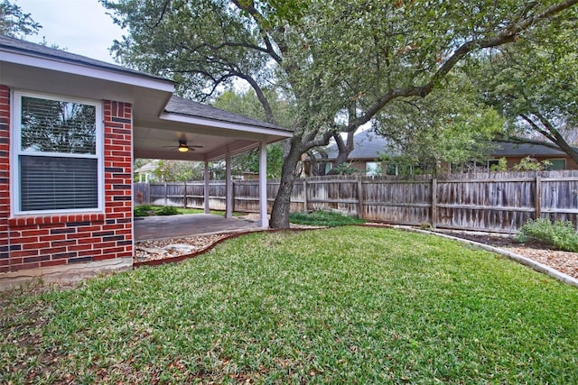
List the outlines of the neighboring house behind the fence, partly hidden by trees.
{"type": "MultiPolygon", "coordinates": [[[[357,133],[354,136],[354,147],[348,157],[348,165],[367,176],[375,176],[380,171],[380,158],[388,153],[391,154],[391,145],[383,136],[373,133],[371,130],[357,133]]],[[[333,161],[339,153],[335,143],[327,147],[327,168],[331,170],[333,161]]],[[[512,168],[522,159],[530,157],[539,161],[548,160],[551,163],[549,170],[578,170],[578,165],[563,151],[557,151],[549,147],[533,144],[514,144],[496,142],[494,150],[485,162],[475,162],[478,169],[489,168],[497,164],[500,158],[506,158],[508,168],[512,168]]],[[[446,165],[447,166],[447,165],[446,165]]],[[[447,167],[449,169],[449,167],[447,167]]],[[[388,170],[389,174],[396,174],[395,170],[388,170]]],[[[311,175],[311,172],[308,172],[311,175]]]]}

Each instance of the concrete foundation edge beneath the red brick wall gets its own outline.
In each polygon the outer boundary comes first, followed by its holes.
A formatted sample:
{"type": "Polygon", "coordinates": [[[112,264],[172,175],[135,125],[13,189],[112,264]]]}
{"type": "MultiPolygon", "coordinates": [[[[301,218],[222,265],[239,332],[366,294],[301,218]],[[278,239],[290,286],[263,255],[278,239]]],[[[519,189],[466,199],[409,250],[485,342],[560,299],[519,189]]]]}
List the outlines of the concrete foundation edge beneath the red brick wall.
{"type": "Polygon", "coordinates": [[[35,280],[43,283],[73,282],[105,272],[130,270],[132,267],[133,258],[129,257],[6,272],[0,274],[0,290],[23,287],[35,280]]]}

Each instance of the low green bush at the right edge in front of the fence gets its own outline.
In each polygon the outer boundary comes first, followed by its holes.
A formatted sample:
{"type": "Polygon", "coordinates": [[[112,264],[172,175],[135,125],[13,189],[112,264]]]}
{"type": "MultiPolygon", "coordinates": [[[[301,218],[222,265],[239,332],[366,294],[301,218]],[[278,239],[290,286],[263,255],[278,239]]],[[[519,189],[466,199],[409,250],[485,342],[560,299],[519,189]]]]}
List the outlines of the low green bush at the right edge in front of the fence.
{"type": "Polygon", "coordinates": [[[534,241],[554,246],[565,252],[578,252],[578,233],[572,222],[555,221],[547,218],[529,220],[517,234],[517,241],[527,243],[534,241]]]}

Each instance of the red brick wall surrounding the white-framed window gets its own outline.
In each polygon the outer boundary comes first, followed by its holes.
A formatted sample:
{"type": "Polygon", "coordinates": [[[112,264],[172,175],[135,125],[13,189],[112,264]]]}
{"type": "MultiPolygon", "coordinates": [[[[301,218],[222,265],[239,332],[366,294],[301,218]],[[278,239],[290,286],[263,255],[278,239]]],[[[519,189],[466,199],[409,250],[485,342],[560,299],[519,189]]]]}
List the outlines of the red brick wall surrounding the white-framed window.
{"type": "Polygon", "coordinates": [[[104,213],[10,217],[9,96],[0,86],[0,272],[132,257],[131,105],[104,102],[104,213]]]}

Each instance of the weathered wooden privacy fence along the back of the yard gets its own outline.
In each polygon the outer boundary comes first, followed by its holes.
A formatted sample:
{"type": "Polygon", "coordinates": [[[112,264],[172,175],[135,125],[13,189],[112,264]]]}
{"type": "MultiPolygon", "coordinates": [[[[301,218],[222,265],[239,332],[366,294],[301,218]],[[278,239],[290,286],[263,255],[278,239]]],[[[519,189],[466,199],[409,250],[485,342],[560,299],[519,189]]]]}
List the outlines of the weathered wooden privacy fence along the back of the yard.
{"type": "MultiPolygon", "coordinates": [[[[269,208],[278,180],[267,183],[269,208]]],[[[203,207],[203,182],[135,184],[135,203],[203,207]]],[[[225,208],[224,181],[210,182],[210,207],[225,208]]],[[[258,212],[258,181],[233,183],[233,210],[258,212]]],[[[452,174],[433,178],[331,176],[297,179],[291,211],[337,209],[396,225],[515,233],[536,217],[578,227],[578,171],[452,174]]]]}

